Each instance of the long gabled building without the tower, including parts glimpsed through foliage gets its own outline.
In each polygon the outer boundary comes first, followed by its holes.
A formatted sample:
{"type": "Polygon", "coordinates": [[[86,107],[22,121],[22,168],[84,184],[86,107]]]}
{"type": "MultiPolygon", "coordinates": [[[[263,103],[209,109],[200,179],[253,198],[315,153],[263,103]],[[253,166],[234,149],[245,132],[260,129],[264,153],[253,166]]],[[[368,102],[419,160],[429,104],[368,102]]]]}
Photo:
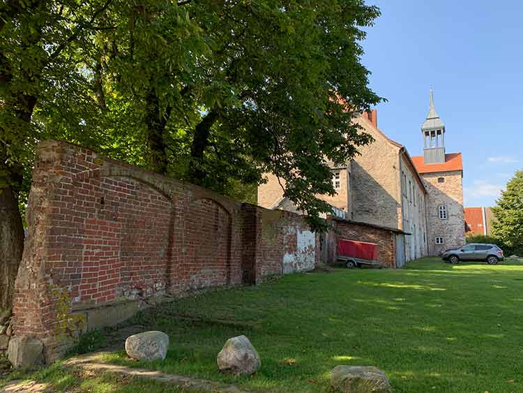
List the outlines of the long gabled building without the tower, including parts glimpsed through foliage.
{"type": "MultiPolygon", "coordinates": [[[[388,265],[400,267],[427,255],[423,179],[407,149],[379,130],[376,110],[364,112],[354,121],[372,135],[374,142],[361,147],[361,155],[347,165],[331,166],[336,195],[321,195],[321,198],[335,207],[335,216],[350,221],[353,234],[354,230],[363,232],[358,239],[365,241],[366,237],[371,241],[377,232],[386,231],[384,236],[393,234],[394,247],[387,249],[395,257],[388,265]]],[[[296,212],[296,207],[283,198],[285,184],[280,185],[272,174],[266,177],[267,183],[258,188],[258,204],[296,212]]],[[[352,238],[356,239],[354,235],[352,238]]],[[[383,240],[383,243],[389,242],[383,240]]]]}

